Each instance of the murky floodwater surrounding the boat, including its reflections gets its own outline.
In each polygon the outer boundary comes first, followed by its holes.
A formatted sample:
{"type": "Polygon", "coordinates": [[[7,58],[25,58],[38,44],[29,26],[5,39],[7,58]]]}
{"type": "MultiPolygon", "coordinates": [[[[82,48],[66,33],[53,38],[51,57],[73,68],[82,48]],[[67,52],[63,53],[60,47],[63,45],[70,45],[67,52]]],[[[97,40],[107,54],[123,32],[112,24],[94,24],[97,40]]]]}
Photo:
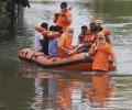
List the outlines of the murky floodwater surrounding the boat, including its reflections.
{"type": "Polygon", "coordinates": [[[45,70],[20,62],[19,51],[34,47],[34,26],[42,21],[53,24],[53,13],[62,2],[32,1],[13,34],[1,31],[0,110],[132,110],[132,1],[67,1],[74,13],[73,44],[77,43],[81,25],[101,19],[112,31],[117,70],[103,74],[45,70]]]}

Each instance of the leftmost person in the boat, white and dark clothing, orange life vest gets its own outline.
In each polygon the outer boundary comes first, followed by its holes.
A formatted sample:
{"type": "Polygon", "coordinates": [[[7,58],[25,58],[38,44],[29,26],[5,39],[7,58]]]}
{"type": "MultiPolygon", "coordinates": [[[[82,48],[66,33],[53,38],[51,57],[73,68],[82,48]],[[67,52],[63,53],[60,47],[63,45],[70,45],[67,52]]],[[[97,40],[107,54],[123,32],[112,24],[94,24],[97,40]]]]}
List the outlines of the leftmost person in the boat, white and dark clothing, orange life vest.
{"type": "Polygon", "coordinates": [[[48,38],[46,34],[42,34],[43,31],[48,30],[48,24],[46,22],[42,22],[41,25],[35,26],[35,30],[37,31],[35,34],[35,50],[48,55],[48,38]]]}

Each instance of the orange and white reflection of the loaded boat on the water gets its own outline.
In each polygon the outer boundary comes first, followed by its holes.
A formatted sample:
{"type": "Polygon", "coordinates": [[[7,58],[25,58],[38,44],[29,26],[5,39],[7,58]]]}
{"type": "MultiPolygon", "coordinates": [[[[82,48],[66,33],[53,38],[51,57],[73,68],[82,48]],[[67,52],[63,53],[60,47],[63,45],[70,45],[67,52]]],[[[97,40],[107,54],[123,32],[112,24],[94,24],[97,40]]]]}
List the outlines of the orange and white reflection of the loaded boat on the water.
{"type": "Polygon", "coordinates": [[[23,77],[33,78],[35,110],[89,110],[109,108],[114,98],[116,77],[108,73],[50,72],[22,66],[23,77]],[[24,68],[23,68],[24,67],[24,68]]]}

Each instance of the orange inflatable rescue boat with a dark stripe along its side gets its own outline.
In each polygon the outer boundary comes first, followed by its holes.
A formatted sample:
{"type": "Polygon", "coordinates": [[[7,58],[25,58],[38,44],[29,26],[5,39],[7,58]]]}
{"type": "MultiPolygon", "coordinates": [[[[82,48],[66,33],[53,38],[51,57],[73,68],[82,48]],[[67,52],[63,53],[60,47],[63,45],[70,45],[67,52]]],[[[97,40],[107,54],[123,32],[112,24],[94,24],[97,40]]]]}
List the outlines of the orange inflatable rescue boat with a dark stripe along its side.
{"type": "MultiPolygon", "coordinates": [[[[74,54],[65,58],[48,58],[42,52],[33,48],[24,48],[19,53],[20,59],[36,63],[44,68],[57,70],[81,70],[90,72],[92,58],[88,53],[74,54]]],[[[116,66],[109,63],[109,70],[116,70],[116,66]]]]}

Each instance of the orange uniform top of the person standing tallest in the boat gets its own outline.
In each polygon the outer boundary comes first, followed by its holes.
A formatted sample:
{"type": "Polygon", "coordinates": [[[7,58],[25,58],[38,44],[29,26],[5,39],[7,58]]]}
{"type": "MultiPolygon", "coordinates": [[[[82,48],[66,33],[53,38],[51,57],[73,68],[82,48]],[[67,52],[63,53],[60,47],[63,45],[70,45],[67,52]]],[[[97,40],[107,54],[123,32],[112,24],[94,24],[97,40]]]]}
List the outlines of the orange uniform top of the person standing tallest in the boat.
{"type": "Polygon", "coordinates": [[[54,23],[56,25],[59,25],[63,28],[63,31],[65,32],[67,30],[67,28],[69,28],[72,25],[72,20],[73,20],[73,15],[70,13],[70,11],[67,9],[66,12],[59,12],[58,16],[54,19],[54,23]]]}

